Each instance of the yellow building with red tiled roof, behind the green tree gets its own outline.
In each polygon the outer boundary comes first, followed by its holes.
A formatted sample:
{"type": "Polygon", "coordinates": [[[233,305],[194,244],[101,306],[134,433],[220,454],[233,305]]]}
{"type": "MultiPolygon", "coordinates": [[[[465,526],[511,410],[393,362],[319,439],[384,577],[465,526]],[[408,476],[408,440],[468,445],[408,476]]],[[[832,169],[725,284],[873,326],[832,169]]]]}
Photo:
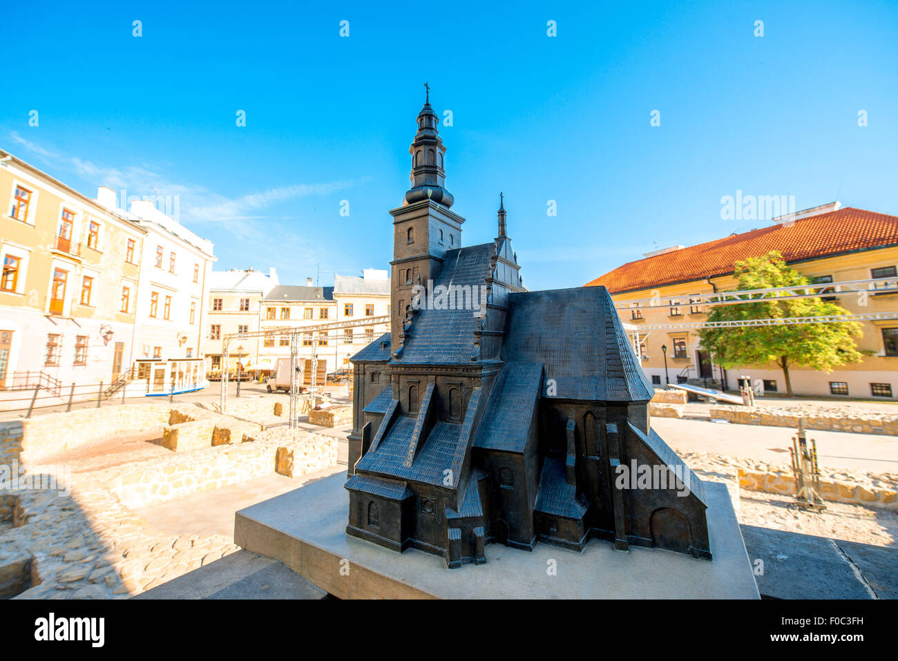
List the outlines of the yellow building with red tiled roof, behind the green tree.
{"type": "MultiPolygon", "coordinates": [[[[701,322],[708,306],[695,300],[736,287],[737,260],[779,251],[788,265],[812,282],[848,282],[868,278],[896,278],[898,217],[838,203],[798,212],[769,227],[731,234],[690,247],[676,246],[648,253],[628,262],[587,286],[607,286],[617,303],[649,299],[636,309],[621,309],[623,322],[638,328],[651,325],[701,322]],[[673,306],[671,306],[673,305],[673,306]]],[[[894,283],[894,279],[893,279],[894,283]]],[[[885,282],[884,282],[885,284],[885,282]]],[[[894,286],[894,285],[893,285],[894,286]]],[[[841,366],[826,374],[789,369],[797,395],[894,399],[898,394],[898,295],[853,292],[833,300],[849,313],[885,313],[882,319],[861,322],[858,348],[872,352],[863,363],[841,366]]],[[[748,376],[763,392],[786,392],[777,366],[744,366],[723,370],[700,350],[697,329],[638,331],[644,337],[642,366],[653,383],[708,383],[734,389],[748,376]],[[666,351],[662,351],[662,347],[666,351]],[[666,369],[665,369],[666,358],[666,369]]]]}

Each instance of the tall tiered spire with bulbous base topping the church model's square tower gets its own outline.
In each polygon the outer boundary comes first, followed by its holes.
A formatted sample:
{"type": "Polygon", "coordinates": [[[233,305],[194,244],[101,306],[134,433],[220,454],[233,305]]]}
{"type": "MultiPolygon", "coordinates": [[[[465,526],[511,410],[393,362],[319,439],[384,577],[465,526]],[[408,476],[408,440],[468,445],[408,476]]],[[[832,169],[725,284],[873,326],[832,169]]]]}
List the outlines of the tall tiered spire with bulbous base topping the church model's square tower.
{"type": "Polygon", "coordinates": [[[418,132],[409,147],[412,186],[405,193],[405,201],[413,204],[429,199],[448,208],[452,207],[455,198],[444,188],[446,173],[443,156],[446,148],[436,130],[439,119],[430,107],[430,85],[425,83],[424,88],[427,96],[424,107],[418,112],[418,132]]]}

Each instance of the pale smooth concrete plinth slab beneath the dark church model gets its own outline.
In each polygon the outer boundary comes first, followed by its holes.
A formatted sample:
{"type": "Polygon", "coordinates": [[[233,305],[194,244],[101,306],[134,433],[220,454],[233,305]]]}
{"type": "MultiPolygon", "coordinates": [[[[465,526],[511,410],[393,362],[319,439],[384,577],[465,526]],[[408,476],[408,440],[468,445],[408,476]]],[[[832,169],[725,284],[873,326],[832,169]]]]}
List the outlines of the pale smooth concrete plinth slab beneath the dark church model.
{"type": "Polygon", "coordinates": [[[594,540],[583,553],[537,544],[486,547],[487,562],[447,569],[409,549],[388,551],[346,534],[346,477],[333,475],[236,514],[234,543],[280,560],[343,599],[758,599],[752,566],[726,486],[705,483],[714,560],[594,540]]]}

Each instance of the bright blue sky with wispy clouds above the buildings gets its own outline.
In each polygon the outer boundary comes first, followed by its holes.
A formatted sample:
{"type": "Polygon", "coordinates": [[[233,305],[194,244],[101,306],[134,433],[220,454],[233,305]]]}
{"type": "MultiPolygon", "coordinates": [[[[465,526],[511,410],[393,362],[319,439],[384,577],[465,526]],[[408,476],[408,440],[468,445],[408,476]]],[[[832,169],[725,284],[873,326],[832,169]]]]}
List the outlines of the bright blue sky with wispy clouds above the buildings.
{"type": "Polygon", "coordinates": [[[462,242],[504,191],[532,289],[767,225],[721,219],[737,189],[898,215],[898,3],[423,6],[19,4],[0,146],[90,197],[178,195],[216,269],[286,283],[387,268],[425,81],[462,242]]]}

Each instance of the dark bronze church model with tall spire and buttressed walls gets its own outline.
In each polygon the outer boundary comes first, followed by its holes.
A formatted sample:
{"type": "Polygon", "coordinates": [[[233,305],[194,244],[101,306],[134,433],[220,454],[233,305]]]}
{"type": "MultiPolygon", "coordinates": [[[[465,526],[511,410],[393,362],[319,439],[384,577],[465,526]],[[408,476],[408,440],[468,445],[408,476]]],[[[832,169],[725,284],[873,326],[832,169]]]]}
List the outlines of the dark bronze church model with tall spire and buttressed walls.
{"type": "Polygon", "coordinates": [[[710,560],[701,481],[649,427],[608,290],[526,291],[504,203],[462,247],[437,126],[428,98],[390,212],[391,331],[352,358],[347,533],[450,568],[592,538],[710,560]]]}

